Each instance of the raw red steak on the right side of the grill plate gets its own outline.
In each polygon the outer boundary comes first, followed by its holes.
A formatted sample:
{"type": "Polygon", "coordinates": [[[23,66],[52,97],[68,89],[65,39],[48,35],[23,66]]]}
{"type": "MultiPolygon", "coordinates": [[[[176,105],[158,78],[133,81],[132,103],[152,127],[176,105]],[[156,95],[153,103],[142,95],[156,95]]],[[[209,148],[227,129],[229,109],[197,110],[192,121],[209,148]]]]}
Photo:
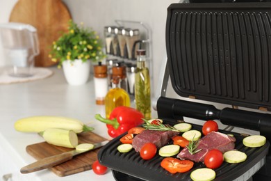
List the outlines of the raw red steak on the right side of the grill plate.
{"type": "Polygon", "coordinates": [[[223,153],[233,150],[235,141],[236,139],[234,137],[228,136],[227,134],[211,132],[199,140],[197,149],[202,149],[201,151],[191,155],[187,148],[183,148],[177,157],[179,159],[190,159],[194,162],[204,162],[204,157],[209,150],[217,149],[223,153]]]}

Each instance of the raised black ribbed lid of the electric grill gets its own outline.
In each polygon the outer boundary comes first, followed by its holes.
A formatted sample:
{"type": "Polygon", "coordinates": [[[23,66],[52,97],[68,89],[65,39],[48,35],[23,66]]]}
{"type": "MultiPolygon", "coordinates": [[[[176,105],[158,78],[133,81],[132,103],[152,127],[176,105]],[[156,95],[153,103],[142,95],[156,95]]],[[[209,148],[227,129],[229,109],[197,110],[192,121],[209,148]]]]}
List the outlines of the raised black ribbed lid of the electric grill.
{"type": "Polygon", "coordinates": [[[167,12],[178,95],[271,111],[271,3],[174,3],[167,12]]]}

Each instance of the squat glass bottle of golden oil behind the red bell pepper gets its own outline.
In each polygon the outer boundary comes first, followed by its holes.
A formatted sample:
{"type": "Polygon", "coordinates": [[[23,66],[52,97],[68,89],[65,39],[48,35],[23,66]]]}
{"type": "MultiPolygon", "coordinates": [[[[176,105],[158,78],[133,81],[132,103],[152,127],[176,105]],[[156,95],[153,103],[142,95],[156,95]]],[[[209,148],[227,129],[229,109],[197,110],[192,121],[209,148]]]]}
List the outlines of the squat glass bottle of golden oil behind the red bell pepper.
{"type": "Polygon", "coordinates": [[[112,86],[105,98],[106,118],[116,107],[130,107],[130,97],[123,88],[120,88],[120,77],[113,77],[112,86]]]}

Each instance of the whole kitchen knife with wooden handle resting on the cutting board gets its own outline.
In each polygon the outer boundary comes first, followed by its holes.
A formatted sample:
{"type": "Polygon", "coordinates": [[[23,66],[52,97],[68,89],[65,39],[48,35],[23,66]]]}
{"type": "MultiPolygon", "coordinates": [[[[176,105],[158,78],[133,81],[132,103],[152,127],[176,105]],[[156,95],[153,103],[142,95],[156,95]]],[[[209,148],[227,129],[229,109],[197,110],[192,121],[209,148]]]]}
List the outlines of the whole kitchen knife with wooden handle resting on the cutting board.
{"type": "MultiPolygon", "coordinates": [[[[95,143],[94,148],[90,150],[94,150],[96,148],[100,148],[103,145],[106,145],[109,141],[102,141],[100,143],[95,143]]],[[[90,150],[71,150],[68,152],[63,152],[58,155],[53,155],[51,157],[45,157],[44,159],[40,159],[37,162],[34,162],[32,164],[28,164],[27,166],[24,166],[21,168],[21,173],[32,173],[35,171],[40,171],[45,168],[51,168],[53,166],[56,166],[58,164],[62,164],[63,162],[67,162],[68,160],[72,159],[75,155],[79,155],[83,152],[88,152],[90,150]]]]}

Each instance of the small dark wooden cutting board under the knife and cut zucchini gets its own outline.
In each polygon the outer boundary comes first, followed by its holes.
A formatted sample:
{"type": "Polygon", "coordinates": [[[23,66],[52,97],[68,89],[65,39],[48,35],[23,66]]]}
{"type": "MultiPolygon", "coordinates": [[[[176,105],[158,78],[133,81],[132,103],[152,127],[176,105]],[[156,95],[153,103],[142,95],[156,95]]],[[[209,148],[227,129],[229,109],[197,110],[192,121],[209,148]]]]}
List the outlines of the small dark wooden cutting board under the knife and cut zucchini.
{"type": "MultiPolygon", "coordinates": [[[[93,132],[84,132],[79,134],[79,143],[98,143],[105,140],[106,139],[93,132]]],[[[72,149],[51,145],[46,142],[26,146],[26,152],[37,160],[43,159],[44,157],[50,157],[52,155],[58,155],[69,150],[72,149]]],[[[93,162],[97,160],[98,151],[99,149],[96,149],[82,153],[81,155],[76,155],[73,159],[58,166],[54,166],[50,168],[50,170],[60,177],[82,171],[88,171],[91,169],[93,162]]]]}

